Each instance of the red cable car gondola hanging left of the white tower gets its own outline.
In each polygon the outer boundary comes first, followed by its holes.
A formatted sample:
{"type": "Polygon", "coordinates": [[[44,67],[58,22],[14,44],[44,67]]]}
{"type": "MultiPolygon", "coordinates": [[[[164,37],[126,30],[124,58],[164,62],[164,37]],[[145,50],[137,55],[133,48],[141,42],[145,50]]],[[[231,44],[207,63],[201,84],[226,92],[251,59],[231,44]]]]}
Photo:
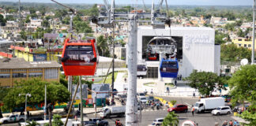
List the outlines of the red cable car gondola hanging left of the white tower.
{"type": "Polygon", "coordinates": [[[98,60],[94,38],[66,39],[62,51],[62,67],[66,76],[94,76],[98,60]]]}

